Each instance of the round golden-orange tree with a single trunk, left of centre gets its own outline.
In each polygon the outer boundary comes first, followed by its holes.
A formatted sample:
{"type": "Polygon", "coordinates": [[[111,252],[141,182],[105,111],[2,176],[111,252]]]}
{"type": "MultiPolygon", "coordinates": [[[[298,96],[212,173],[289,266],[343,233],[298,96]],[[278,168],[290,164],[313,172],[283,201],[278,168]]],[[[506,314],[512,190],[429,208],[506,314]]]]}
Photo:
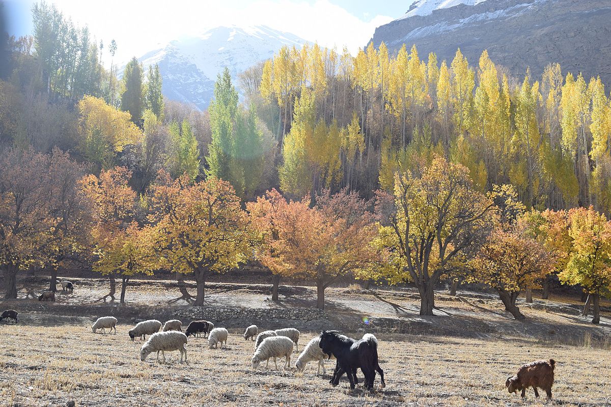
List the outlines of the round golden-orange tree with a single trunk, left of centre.
{"type": "Polygon", "coordinates": [[[233,186],[208,177],[191,184],[188,175],[172,181],[159,174],[148,197],[160,266],[193,274],[195,305],[202,305],[207,277],[237,267],[249,257],[249,225],[233,186]]]}

